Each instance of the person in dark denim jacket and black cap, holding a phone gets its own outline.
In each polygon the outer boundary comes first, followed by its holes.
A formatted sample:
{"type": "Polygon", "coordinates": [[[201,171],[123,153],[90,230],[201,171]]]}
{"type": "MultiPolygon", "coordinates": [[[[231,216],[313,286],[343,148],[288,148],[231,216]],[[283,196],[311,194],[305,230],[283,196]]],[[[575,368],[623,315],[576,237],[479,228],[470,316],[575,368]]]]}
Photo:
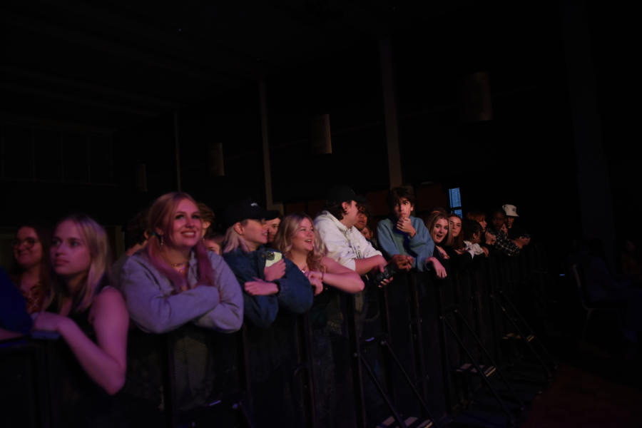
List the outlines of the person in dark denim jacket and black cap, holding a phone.
{"type": "Polygon", "coordinates": [[[225,208],[228,230],[223,258],[244,290],[245,319],[267,328],[280,309],[301,314],[312,306],[314,290],[299,268],[277,250],[265,248],[267,225],[277,211],[265,211],[250,198],[225,208]]]}

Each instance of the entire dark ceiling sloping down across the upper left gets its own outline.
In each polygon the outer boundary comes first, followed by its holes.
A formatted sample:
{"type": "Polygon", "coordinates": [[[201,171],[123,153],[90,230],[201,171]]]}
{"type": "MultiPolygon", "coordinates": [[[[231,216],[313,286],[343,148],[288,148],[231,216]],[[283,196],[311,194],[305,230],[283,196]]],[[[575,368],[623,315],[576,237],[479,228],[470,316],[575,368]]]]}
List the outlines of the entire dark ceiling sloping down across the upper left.
{"type": "Polygon", "coordinates": [[[474,2],[3,1],[0,119],[113,133],[474,2]]]}

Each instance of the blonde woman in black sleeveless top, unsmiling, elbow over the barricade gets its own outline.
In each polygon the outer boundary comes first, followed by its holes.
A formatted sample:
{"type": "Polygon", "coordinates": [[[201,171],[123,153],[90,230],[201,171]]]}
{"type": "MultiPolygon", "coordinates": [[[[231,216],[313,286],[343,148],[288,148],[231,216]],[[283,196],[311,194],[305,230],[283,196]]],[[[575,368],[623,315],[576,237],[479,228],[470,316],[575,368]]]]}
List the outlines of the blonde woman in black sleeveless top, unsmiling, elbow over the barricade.
{"type": "Polygon", "coordinates": [[[88,377],[116,394],[125,382],[129,317],[121,293],[109,285],[109,254],[105,230],[88,216],[56,226],[51,312],[39,312],[34,330],[60,333],[88,377]]]}

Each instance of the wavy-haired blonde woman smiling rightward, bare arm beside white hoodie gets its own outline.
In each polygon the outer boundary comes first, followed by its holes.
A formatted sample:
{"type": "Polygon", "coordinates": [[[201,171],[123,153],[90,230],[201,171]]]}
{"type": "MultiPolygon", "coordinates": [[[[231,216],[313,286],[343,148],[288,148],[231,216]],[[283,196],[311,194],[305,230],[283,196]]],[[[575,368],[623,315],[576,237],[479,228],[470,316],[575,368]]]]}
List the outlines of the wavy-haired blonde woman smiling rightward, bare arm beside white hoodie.
{"type": "MultiPolygon", "coordinates": [[[[312,218],[307,214],[295,213],[283,218],[274,240],[274,248],[292,260],[310,282],[320,280],[325,285],[350,294],[364,288],[357,272],[325,255],[325,248],[312,218]]],[[[320,287],[317,287],[315,294],[320,291],[320,287]]]]}

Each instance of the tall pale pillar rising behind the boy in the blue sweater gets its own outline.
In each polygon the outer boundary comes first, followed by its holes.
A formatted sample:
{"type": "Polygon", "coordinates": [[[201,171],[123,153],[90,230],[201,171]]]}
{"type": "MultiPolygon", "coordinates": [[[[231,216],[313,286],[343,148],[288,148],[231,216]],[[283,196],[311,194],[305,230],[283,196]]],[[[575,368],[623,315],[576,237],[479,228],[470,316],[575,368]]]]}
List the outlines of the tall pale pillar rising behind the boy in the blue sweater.
{"type": "Polygon", "coordinates": [[[399,153],[399,117],[397,115],[397,88],[394,84],[394,63],[392,61],[392,40],[379,41],[381,61],[381,83],[386,118],[386,139],[388,142],[388,170],[390,188],[402,185],[401,154],[399,153]]]}

